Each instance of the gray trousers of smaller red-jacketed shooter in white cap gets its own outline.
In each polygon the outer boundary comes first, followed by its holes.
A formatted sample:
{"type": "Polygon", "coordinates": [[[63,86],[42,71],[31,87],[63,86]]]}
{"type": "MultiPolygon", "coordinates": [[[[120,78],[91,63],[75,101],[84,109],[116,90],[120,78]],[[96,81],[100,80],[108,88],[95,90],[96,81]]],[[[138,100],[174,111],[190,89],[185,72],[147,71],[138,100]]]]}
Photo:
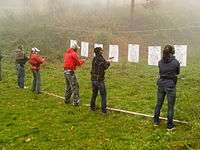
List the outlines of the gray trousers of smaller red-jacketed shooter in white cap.
{"type": "Polygon", "coordinates": [[[32,82],[32,91],[36,94],[41,93],[40,84],[41,84],[41,78],[40,78],[40,71],[32,70],[33,73],[33,82],[32,82]]]}

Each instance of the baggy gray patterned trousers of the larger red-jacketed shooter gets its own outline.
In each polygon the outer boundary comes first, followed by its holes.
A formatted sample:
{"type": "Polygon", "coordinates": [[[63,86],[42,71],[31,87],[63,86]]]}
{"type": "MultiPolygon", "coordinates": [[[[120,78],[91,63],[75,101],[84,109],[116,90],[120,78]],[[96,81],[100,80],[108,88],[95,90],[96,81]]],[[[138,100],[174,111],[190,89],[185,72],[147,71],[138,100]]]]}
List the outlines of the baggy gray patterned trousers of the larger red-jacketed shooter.
{"type": "Polygon", "coordinates": [[[65,103],[80,104],[79,84],[74,71],[65,70],[65,103]]]}

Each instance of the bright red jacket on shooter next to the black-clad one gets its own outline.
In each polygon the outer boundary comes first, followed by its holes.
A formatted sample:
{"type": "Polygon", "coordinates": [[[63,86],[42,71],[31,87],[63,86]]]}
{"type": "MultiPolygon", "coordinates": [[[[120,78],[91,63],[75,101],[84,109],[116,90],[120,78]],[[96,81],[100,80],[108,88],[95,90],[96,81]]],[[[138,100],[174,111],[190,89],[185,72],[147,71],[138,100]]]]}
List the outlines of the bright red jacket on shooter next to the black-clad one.
{"type": "Polygon", "coordinates": [[[73,48],[69,48],[64,53],[64,69],[65,70],[76,70],[77,66],[80,66],[84,63],[82,59],[78,58],[77,52],[74,51],[73,48]]]}

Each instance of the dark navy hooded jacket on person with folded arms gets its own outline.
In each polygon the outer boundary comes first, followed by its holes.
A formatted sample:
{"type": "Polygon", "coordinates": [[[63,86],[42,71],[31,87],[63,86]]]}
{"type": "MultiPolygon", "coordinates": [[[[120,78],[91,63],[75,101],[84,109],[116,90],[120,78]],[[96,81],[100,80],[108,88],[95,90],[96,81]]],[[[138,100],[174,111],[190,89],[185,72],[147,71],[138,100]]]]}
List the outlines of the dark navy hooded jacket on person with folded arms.
{"type": "Polygon", "coordinates": [[[159,75],[158,86],[175,87],[177,75],[180,73],[180,63],[174,56],[171,56],[167,61],[161,59],[158,63],[159,75]]]}

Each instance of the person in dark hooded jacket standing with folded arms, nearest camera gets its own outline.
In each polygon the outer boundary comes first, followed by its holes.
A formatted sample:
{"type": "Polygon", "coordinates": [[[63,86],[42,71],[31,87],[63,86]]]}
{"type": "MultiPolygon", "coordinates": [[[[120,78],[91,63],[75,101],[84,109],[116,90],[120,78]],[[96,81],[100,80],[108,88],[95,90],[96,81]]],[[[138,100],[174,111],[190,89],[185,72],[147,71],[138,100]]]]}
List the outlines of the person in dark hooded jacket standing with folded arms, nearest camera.
{"type": "Polygon", "coordinates": [[[167,95],[168,111],[167,111],[167,129],[175,128],[173,123],[174,106],[176,101],[176,83],[177,75],[180,73],[180,63],[173,56],[175,53],[174,47],[166,45],[163,50],[162,59],[159,61],[159,79],[157,81],[157,103],[154,112],[154,126],[160,124],[160,110],[167,95]]]}

